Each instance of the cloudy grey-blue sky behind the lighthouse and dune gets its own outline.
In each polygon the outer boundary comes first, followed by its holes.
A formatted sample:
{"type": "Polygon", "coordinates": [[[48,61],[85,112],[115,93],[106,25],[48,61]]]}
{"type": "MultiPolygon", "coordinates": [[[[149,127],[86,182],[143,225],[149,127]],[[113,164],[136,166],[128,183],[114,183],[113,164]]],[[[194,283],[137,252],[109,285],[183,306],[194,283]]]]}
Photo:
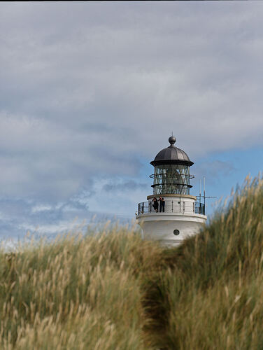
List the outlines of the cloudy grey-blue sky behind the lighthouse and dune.
{"type": "Polygon", "coordinates": [[[0,239],[130,220],[189,155],[207,212],[263,159],[262,1],[0,4],[0,239]]]}

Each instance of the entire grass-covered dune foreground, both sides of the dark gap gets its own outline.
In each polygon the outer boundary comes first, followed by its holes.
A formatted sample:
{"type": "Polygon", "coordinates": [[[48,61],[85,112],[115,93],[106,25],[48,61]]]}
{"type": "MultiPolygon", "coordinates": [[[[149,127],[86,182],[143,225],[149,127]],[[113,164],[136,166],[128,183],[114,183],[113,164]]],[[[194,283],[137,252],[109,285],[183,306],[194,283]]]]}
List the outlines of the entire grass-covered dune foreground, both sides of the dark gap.
{"type": "Polygon", "coordinates": [[[124,228],[0,253],[1,349],[263,349],[263,182],[165,249],[124,228]]]}

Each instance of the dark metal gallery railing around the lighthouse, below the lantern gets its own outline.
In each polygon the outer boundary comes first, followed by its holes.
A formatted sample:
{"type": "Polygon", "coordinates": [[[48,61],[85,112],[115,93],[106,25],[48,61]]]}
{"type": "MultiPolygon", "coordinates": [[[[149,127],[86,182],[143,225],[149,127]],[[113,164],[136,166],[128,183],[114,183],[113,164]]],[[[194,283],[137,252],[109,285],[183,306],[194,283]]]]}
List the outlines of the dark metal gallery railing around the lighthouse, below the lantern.
{"type": "Polygon", "coordinates": [[[164,211],[164,213],[193,213],[205,215],[204,203],[178,202],[176,200],[166,200],[164,208],[161,208],[159,203],[158,207],[154,207],[153,202],[138,203],[137,214],[160,213],[161,210],[162,212],[164,211]]]}

